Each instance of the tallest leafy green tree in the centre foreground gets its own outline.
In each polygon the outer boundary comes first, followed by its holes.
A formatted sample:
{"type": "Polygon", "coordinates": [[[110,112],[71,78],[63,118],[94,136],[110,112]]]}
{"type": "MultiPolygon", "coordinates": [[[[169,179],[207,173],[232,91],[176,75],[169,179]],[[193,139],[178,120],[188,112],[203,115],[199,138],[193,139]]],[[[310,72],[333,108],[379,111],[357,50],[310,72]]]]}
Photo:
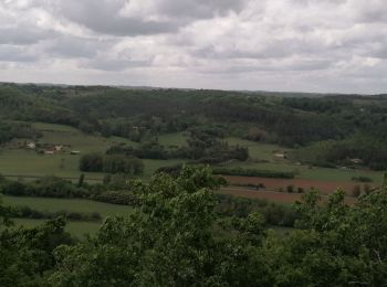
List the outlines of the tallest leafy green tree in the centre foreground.
{"type": "Polygon", "coordinates": [[[213,237],[216,198],[211,190],[218,187],[219,180],[208,168],[186,167],[176,180],[166,174],[154,177],[148,185],[139,187],[142,208],[135,213],[107,220],[85,244],[56,249],[59,268],[51,284],[223,286],[265,281],[262,273],[248,272],[262,264],[257,253],[242,248],[242,244],[263,238],[260,215],[239,223],[245,243],[220,243],[213,237]],[[243,262],[251,265],[240,265],[243,262]]]}

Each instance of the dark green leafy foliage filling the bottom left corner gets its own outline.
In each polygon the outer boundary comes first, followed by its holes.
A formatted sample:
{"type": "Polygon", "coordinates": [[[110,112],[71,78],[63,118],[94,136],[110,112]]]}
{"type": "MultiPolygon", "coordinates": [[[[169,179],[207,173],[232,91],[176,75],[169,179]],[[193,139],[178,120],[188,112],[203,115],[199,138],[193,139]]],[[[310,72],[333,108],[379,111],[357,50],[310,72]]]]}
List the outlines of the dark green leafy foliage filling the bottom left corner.
{"type": "Polygon", "coordinates": [[[45,285],[44,274],[55,264],[53,251],[74,243],[64,225],[56,219],[31,230],[0,230],[0,285],[45,285]]]}

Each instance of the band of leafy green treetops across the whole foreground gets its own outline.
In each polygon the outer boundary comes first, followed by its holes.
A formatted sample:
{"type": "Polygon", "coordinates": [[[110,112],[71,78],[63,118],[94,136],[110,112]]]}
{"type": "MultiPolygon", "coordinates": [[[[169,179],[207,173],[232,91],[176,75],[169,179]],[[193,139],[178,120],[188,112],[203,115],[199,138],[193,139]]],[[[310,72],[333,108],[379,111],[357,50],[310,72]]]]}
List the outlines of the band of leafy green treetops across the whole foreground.
{"type": "Polygon", "coordinates": [[[63,219],[12,228],[10,210],[0,203],[0,285],[387,284],[387,181],[352,206],[341,191],[326,201],[304,194],[294,206],[296,228],[281,234],[268,231],[265,216],[249,212],[250,204],[238,203],[241,216],[220,216],[212,192],[219,181],[209,169],[186,168],[175,179],[159,174],[137,188],[140,206],[106,220],[81,242],[64,231],[63,219]]]}

